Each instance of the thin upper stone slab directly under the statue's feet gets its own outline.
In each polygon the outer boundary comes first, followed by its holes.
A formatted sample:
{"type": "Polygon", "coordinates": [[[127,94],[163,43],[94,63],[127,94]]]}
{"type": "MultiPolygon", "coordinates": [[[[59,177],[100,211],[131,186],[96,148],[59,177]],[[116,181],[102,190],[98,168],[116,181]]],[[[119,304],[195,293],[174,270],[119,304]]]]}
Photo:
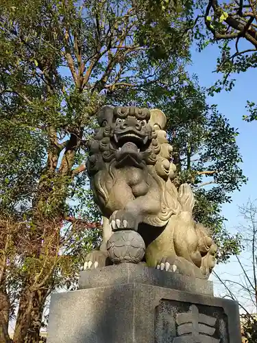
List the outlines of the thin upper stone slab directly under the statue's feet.
{"type": "Polygon", "coordinates": [[[197,294],[213,295],[212,281],[193,279],[189,276],[164,272],[141,264],[123,263],[80,273],[79,289],[143,283],[197,294]]]}

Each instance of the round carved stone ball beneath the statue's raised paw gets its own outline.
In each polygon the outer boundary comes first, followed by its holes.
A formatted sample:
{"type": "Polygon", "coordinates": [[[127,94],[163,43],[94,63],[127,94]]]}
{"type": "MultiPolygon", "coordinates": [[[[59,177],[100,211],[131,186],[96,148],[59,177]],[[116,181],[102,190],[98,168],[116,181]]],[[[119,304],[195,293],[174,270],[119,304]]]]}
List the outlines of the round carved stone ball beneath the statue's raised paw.
{"type": "Polygon", "coordinates": [[[110,260],[115,263],[139,263],[145,255],[145,242],[134,230],[115,231],[107,242],[110,260]]]}

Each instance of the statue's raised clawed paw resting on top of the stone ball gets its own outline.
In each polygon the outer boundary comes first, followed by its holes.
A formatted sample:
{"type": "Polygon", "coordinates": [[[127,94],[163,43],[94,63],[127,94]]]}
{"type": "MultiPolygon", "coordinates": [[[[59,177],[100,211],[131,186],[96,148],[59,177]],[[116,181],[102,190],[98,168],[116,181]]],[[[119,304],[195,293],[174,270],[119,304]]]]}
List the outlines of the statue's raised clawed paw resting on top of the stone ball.
{"type": "Polygon", "coordinates": [[[137,230],[136,217],[125,210],[114,211],[110,216],[110,227],[116,230],[137,230]]]}

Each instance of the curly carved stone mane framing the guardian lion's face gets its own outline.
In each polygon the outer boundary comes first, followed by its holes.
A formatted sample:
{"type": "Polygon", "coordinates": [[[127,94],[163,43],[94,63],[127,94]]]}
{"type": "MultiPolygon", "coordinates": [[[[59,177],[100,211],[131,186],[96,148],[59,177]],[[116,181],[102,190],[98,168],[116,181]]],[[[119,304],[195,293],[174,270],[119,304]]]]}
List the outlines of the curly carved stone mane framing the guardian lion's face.
{"type": "MultiPolygon", "coordinates": [[[[192,213],[194,197],[190,187],[180,187],[179,192],[173,185],[175,165],[171,162],[173,148],[167,140],[167,132],[164,131],[167,118],[161,110],[136,107],[111,107],[104,106],[98,114],[99,129],[95,131],[95,137],[89,144],[89,158],[87,170],[90,176],[91,187],[100,201],[100,208],[108,202],[110,179],[112,185],[117,181],[117,149],[114,149],[110,139],[114,135],[115,120],[117,117],[126,115],[136,119],[145,119],[151,127],[151,141],[145,152],[142,152],[142,164],[146,173],[156,180],[160,189],[162,206],[158,215],[144,218],[144,222],[154,226],[164,226],[169,222],[171,215],[180,213],[187,207],[192,213]],[[108,185],[106,183],[109,176],[108,185]]],[[[97,199],[96,199],[97,200],[97,199]]]]}

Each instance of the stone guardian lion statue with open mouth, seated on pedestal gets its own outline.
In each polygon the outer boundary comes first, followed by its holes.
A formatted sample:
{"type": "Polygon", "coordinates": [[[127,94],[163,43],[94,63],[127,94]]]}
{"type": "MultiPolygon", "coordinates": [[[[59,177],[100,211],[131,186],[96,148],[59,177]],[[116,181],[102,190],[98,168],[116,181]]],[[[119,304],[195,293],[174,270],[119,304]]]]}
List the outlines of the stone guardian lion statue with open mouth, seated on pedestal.
{"type": "Polygon", "coordinates": [[[173,185],[175,165],[161,110],[104,106],[89,143],[87,171],[103,214],[103,244],[87,268],[108,265],[106,243],[115,230],[135,230],[145,241],[150,267],[208,278],[217,246],[193,220],[191,187],[173,185]]]}

